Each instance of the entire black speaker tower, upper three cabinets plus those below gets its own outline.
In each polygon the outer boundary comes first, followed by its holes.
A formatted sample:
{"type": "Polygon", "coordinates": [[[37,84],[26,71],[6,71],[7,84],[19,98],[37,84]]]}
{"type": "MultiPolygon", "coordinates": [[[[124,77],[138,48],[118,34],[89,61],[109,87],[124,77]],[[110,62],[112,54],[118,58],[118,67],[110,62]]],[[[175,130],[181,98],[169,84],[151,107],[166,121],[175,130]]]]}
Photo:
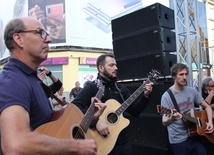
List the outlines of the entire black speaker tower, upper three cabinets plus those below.
{"type": "MultiPolygon", "coordinates": [[[[177,56],[171,54],[176,51],[174,29],[174,11],[159,3],[112,20],[118,78],[130,91],[135,91],[142,81],[123,80],[147,78],[152,69],[159,70],[163,76],[170,75],[172,65],[177,62],[177,56]]],[[[171,155],[167,130],[162,125],[156,106],[173,81],[157,83],[140,117],[129,118],[131,124],[127,129],[132,138],[134,155],[171,155]]]]}

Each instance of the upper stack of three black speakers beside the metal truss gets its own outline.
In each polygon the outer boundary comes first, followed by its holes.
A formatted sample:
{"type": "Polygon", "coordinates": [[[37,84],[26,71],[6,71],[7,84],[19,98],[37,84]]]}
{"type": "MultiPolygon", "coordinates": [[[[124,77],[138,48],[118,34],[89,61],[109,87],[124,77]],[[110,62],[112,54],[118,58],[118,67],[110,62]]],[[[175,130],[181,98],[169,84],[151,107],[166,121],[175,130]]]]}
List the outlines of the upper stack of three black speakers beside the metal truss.
{"type": "Polygon", "coordinates": [[[112,20],[113,51],[120,80],[145,78],[152,69],[170,75],[176,63],[174,11],[155,3],[112,20]]]}

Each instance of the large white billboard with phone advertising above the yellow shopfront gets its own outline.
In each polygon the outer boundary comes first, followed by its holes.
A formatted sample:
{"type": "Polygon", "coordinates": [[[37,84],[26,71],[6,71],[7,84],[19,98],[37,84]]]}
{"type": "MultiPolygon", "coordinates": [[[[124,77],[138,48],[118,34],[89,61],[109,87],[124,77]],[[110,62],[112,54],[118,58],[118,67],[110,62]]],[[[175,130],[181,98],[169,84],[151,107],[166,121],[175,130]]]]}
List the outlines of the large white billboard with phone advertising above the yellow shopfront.
{"type": "Polygon", "coordinates": [[[50,46],[112,49],[111,20],[157,2],[144,1],[0,0],[0,58],[9,55],[2,38],[4,27],[21,16],[32,16],[44,24],[53,40],[50,46]]]}

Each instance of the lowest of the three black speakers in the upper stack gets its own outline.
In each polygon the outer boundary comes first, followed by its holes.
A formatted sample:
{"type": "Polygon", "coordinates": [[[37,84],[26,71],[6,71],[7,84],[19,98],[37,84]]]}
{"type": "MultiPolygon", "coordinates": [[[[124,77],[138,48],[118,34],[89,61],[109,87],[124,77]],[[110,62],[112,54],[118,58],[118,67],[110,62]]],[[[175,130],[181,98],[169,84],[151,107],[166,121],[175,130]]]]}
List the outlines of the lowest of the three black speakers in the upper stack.
{"type": "Polygon", "coordinates": [[[159,52],[142,57],[117,60],[119,80],[147,78],[152,69],[160,71],[161,76],[169,76],[177,56],[171,53],[159,52]]]}

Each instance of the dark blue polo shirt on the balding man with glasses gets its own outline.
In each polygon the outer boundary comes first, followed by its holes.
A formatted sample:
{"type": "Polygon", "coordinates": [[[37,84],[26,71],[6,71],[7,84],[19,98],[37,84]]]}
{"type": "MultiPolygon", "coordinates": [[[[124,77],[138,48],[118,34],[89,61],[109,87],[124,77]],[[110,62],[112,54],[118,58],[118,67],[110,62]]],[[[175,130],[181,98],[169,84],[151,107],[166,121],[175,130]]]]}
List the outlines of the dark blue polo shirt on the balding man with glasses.
{"type": "Polygon", "coordinates": [[[32,129],[49,121],[52,108],[37,72],[10,58],[0,73],[0,112],[11,105],[24,107],[32,129]]]}

